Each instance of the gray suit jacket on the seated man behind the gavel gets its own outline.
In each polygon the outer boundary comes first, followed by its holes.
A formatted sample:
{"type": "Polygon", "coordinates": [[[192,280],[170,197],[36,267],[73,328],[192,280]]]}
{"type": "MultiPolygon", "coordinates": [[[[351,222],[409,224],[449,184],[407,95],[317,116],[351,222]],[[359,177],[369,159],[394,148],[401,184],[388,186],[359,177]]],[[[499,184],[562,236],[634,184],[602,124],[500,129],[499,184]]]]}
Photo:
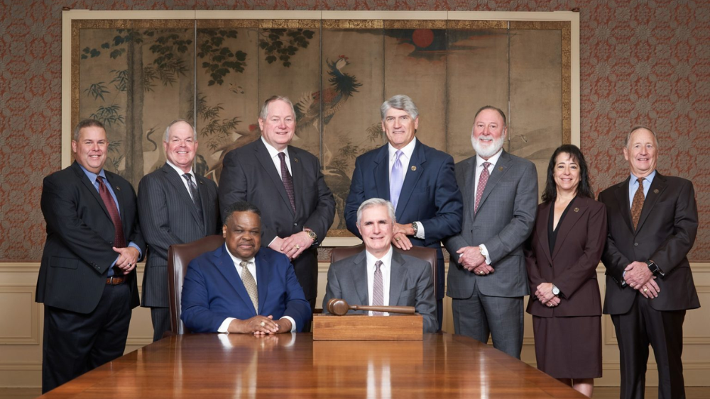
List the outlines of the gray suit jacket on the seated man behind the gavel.
{"type": "MultiPolygon", "coordinates": [[[[330,265],[328,285],[323,298],[323,313],[328,313],[331,298],[342,298],[351,305],[368,305],[367,257],[365,251],[330,265]]],[[[434,298],[432,266],[421,259],[392,252],[390,305],[414,306],[424,318],[424,332],[437,332],[437,305],[434,298]]],[[[350,310],[349,313],[365,313],[350,310]]]]}

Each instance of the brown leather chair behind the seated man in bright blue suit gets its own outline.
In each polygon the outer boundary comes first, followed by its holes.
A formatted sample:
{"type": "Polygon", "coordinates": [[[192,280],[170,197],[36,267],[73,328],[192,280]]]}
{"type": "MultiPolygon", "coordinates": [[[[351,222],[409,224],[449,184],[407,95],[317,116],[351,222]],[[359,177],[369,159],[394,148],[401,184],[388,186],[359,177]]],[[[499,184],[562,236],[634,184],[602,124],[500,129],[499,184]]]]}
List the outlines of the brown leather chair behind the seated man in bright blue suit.
{"type": "Polygon", "coordinates": [[[170,293],[170,332],[173,334],[190,332],[180,320],[182,281],[185,280],[187,265],[192,259],[204,252],[214,251],[221,245],[224,245],[224,237],[221,235],[208,235],[187,244],[170,245],[170,249],[168,249],[168,292],[170,293]]]}

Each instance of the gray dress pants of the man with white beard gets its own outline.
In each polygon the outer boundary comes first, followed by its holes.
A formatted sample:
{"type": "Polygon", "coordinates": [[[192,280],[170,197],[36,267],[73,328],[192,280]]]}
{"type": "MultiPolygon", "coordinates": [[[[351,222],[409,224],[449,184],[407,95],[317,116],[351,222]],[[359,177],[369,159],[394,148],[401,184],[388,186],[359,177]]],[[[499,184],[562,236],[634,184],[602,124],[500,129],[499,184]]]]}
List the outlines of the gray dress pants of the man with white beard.
{"type": "Polygon", "coordinates": [[[470,298],[452,300],[454,332],[520,359],[523,351],[523,297],[486,296],[478,285],[470,298]]]}

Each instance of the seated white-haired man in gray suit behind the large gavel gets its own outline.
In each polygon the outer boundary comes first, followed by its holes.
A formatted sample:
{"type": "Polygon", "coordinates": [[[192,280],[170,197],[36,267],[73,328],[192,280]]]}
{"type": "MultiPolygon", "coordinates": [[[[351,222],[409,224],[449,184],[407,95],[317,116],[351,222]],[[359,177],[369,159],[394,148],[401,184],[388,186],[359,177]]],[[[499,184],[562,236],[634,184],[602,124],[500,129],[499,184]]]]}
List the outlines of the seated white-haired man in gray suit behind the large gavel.
{"type": "Polygon", "coordinates": [[[365,250],[330,265],[323,311],[331,298],[355,305],[414,306],[424,317],[424,332],[437,332],[432,266],[392,248],[395,210],[389,201],[371,198],[357,210],[365,250]]]}

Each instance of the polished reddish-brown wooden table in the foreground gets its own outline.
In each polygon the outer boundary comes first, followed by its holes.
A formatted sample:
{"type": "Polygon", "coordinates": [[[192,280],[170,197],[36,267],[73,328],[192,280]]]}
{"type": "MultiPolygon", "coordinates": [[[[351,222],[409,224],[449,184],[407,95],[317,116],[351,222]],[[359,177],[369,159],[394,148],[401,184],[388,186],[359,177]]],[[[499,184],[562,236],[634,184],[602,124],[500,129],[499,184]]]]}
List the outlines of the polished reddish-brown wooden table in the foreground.
{"type": "Polygon", "coordinates": [[[459,335],[324,342],[310,334],[177,335],[126,354],[43,398],[584,398],[459,335]]]}

